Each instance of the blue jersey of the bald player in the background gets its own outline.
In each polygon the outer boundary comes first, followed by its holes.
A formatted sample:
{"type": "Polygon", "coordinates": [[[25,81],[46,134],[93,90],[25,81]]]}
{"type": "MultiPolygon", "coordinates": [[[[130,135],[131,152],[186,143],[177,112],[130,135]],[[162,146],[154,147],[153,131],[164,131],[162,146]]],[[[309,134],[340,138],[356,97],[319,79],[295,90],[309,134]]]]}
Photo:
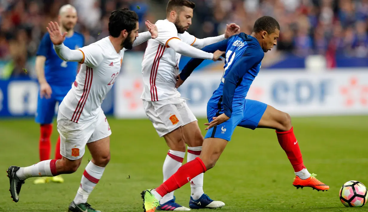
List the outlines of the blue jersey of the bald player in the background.
{"type": "MultiPolygon", "coordinates": [[[[82,34],[74,32],[71,37],[66,37],[63,42],[70,49],[78,49],[84,46],[82,34]]],[[[38,47],[37,56],[46,57],[45,78],[51,86],[68,86],[74,82],[77,75],[78,62],[66,62],[57,56],[49,33],[45,33],[38,47]]]]}

